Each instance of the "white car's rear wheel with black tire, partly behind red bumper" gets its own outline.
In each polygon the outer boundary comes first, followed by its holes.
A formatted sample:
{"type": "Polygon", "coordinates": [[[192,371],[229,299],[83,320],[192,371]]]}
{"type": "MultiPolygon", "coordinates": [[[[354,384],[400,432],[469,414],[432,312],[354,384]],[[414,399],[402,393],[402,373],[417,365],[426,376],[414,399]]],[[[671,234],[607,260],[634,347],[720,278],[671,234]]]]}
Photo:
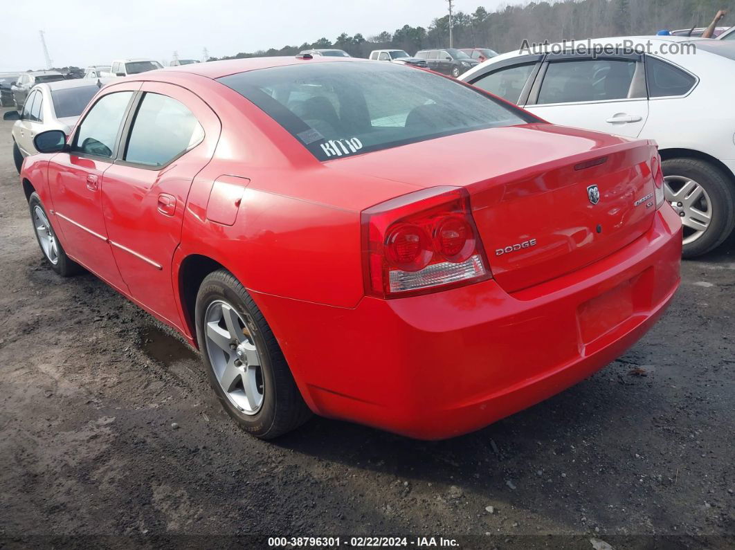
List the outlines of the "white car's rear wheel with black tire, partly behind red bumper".
{"type": "Polygon", "coordinates": [[[666,200],[684,206],[684,258],[695,258],[720,246],[735,228],[735,185],[723,170],[700,159],[667,159],[661,163],[666,200]],[[687,192],[685,186],[692,190],[687,192]],[[698,196],[692,202],[692,198],[698,196]],[[687,198],[689,200],[687,200],[687,198]],[[693,214],[693,215],[692,215],[693,214]],[[709,225],[703,225],[709,217],[709,225]]]}

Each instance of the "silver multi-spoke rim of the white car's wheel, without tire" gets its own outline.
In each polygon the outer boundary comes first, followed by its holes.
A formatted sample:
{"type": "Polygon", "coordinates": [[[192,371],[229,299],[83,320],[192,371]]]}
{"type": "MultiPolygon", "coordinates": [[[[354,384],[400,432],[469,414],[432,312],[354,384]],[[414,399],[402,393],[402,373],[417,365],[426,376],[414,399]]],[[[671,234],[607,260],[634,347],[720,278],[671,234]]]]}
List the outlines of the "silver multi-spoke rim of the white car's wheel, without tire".
{"type": "Polygon", "coordinates": [[[691,178],[666,176],[664,196],[683,214],[684,245],[703,236],[712,221],[712,203],[704,187],[691,178]]]}

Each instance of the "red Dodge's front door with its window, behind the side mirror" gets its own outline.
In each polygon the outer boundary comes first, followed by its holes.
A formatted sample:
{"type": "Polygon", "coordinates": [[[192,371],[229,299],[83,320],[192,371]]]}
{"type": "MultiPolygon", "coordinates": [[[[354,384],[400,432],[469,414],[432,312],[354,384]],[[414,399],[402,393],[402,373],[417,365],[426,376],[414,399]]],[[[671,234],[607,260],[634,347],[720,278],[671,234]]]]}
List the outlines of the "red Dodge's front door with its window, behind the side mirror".
{"type": "Polygon", "coordinates": [[[76,127],[71,150],[49,162],[51,200],[66,252],[123,292],[126,286],[107,242],[100,187],[115,158],[133,95],[121,90],[99,98],[76,127]]]}

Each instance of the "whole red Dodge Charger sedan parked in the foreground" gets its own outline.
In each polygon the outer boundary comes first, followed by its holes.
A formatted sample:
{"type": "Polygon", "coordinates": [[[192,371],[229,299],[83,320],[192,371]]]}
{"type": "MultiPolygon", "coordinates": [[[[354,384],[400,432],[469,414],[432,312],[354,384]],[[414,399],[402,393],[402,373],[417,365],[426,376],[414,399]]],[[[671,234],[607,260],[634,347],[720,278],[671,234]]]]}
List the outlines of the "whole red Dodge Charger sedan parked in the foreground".
{"type": "Polygon", "coordinates": [[[655,143],[415,68],[151,71],[35,144],[21,180],[51,267],[179,330],[261,438],[311,412],[476,430],[617,358],[679,283],[655,143]]]}

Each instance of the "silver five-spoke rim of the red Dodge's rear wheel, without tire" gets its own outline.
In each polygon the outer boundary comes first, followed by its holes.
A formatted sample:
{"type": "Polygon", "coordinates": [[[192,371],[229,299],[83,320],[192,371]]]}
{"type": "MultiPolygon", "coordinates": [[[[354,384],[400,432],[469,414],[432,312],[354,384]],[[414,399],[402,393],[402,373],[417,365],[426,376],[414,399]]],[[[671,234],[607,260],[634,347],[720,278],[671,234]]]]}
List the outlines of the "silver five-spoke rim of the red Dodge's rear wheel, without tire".
{"type": "Polygon", "coordinates": [[[244,414],[257,414],[263,406],[265,384],[253,331],[223,300],[209,304],[204,327],[207,356],[222,391],[244,414]]]}

